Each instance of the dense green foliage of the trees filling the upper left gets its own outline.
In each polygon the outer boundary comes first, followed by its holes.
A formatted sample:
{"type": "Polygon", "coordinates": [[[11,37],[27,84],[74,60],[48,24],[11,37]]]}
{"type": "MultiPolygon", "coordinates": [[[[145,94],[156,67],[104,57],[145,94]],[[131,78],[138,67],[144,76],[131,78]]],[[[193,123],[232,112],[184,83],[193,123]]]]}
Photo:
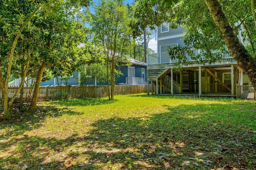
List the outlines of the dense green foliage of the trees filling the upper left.
{"type": "MultiPolygon", "coordinates": [[[[35,78],[38,76],[38,70],[45,67],[54,74],[70,74],[74,70],[72,63],[76,60],[75,48],[83,42],[86,32],[84,24],[77,20],[77,16],[80,14],[80,5],[88,3],[88,0],[0,2],[2,92],[7,89],[5,81],[9,81],[10,75],[23,79],[26,76],[35,78]],[[77,16],[74,17],[74,14],[77,16]],[[11,48],[14,51],[10,51],[11,48]]],[[[49,72],[46,72],[43,80],[49,78],[49,72]]],[[[41,76],[38,79],[41,79],[41,76]]],[[[10,106],[15,97],[16,95],[10,100],[10,106]]],[[[4,100],[7,101],[6,98],[4,100]]],[[[6,107],[4,102],[4,112],[6,107]]]]}

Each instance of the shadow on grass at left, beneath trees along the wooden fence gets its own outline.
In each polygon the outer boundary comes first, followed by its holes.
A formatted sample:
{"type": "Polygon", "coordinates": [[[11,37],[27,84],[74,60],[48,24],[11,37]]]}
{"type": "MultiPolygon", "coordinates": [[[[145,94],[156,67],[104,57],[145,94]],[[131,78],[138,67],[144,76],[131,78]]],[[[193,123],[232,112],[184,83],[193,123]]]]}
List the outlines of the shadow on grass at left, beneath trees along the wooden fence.
{"type": "MultiPolygon", "coordinates": [[[[118,100],[108,100],[102,98],[88,98],[81,100],[59,100],[59,101],[49,101],[50,104],[56,104],[59,106],[66,106],[63,108],[56,106],[42,106],[40,103],[36,106],[36,110],[33,115],[27,115],[24,112],[18,111],[17,104],[14,104],[13,113],[11,115],[11,120],[2,120],[0,125],[2,128],[8,126],[10,129],[8,132],[13,135],[20,135],[25,131],[30,131],[32,129],[38,129],[42,126],[44,120],[48,117],[61,117],[62,115],[82,115],[84,113],[71,111],[68,106],[96,106],[96,105],[106,105],[117,102],[118,100]],[[26,123],[24,123],[26,122],[26,123]]],[[[0,108],[1,110],[1,108],[0,108]]],[[[0,134],[1,135],[1,134],[0,134]]],[[[4,134],[2,134],[4,135],[4,134]]]]}

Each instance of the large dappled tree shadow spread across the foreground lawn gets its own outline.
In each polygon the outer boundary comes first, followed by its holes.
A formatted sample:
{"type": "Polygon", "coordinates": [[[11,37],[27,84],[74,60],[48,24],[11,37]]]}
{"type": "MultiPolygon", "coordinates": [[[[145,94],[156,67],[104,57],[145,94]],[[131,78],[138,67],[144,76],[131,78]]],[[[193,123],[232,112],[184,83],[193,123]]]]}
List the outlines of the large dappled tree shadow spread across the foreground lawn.
{"type": "Polygon", "coordinates": [[[18,131],[18,138],[14,134],[11,140],[0,143],[2,152],[15,148],[0,164],[16,165],[17,169],[24,164],[30,169],[256,168],[254,107],[232,103],[162,107],[168,111],[85,123],[90,131],[79,129],[80,133],[66,137],[47,131],[47,137],[20,137],[22,132],[38,129],[36,125],[48,116],[79,115],[68,108],[63,112],[55,107],[38,107],[38,117],[31,122],[34,129],[28,125],[19,132],[16,128],[11,132],[18,131]]]}

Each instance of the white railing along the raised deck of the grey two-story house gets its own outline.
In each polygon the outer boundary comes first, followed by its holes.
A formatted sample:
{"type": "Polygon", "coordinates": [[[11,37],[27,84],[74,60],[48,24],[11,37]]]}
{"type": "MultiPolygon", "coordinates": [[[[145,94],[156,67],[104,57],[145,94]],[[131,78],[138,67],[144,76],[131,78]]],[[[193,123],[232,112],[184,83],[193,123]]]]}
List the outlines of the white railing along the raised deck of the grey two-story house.
{"type": "MultiPolygon", "coordinates": [[[[200,54],[200,50],[194,50],[194,56],[200,54]]],[[[193,60],[191,56],[188,55],[188,53],[185,54],[187,61],[196,61],[193,60]]],[[[230,59],[232,56],[230,56],[229,53],[226,51],[222,54],[222,59],[230,59]]],[[[204,58],[203,58],[204,59],[204,58]]],[[[148,65],[154,65],[154,64],[168,64],[168,63],[176,63],[178,59],[170,59],[170,55],[168,53],[154,53],[154,54],[148,54],[148,65]]]]}

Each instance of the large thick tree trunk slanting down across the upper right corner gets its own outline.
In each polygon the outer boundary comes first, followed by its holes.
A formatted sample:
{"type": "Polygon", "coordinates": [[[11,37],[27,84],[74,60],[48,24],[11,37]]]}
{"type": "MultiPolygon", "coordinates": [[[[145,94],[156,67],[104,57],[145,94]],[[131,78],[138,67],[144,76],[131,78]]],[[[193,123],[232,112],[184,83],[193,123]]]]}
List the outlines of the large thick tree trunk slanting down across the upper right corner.
{"type": "Polygon", "coordinates": [[[246,72],[252,85],[256,88],[256,59],[248,53],[239,41],[222,10],[220,2],[218,0],[205,0],[205,2],[230,54],[236,60],[238,65],[246,72]]]}

